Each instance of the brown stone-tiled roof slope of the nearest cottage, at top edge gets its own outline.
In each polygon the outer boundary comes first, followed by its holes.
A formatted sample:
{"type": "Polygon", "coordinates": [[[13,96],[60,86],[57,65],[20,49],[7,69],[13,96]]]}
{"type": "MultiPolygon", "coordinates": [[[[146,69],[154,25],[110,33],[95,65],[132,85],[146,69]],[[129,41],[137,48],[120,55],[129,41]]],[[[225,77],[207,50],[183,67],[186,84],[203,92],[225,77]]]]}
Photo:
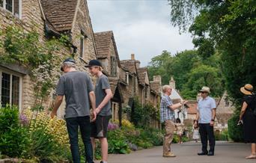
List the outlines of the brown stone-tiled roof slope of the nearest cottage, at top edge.
{"type": "Polygon", "coordinates": [[[40,0],[43,13],[56,31],[71,30],[77,0],[40,0]]]}

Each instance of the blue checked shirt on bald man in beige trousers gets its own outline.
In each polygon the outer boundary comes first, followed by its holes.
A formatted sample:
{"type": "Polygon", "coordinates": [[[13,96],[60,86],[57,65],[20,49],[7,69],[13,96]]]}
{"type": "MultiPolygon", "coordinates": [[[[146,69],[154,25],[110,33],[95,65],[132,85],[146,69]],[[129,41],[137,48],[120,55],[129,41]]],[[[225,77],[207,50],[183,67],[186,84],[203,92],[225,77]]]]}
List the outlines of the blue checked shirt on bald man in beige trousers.
{"type": "Polygon", "coordinates": [[[173,105],[170,96],[163,95],[160,103],[161,123],[165,122],[165,120],[175,120],[174,111],[168,107],[170,105],[173,105]]]}

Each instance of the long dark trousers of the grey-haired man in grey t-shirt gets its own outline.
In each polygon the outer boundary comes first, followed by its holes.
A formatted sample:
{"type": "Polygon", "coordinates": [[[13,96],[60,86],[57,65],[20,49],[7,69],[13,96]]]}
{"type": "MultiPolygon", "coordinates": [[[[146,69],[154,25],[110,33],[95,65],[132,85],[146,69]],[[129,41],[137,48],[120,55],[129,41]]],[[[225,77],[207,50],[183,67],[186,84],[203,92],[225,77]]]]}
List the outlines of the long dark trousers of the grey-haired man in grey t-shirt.
{"type": "Polygon", "coordinates": [[[81,131],[82,141],[85,145],[85,158],[88,163],[94,163],[93,148],[91,145],[91,125],[90,117],[70,117],[66,118],[67,132],[70,138],[70,150],[74,163],[80,163],[79,153],[79,131],[81,131]]]}

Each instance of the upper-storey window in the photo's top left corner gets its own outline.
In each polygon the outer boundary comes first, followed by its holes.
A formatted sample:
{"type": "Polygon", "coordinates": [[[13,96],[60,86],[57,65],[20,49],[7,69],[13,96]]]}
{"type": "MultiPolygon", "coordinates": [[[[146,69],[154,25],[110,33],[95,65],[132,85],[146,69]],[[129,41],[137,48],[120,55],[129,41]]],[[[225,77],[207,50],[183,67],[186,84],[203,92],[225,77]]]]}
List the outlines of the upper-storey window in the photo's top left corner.
{"type": "Polygon", "coordinates": [[[0,7],[21,18],[21,0],[0,0],[0,7]]]}

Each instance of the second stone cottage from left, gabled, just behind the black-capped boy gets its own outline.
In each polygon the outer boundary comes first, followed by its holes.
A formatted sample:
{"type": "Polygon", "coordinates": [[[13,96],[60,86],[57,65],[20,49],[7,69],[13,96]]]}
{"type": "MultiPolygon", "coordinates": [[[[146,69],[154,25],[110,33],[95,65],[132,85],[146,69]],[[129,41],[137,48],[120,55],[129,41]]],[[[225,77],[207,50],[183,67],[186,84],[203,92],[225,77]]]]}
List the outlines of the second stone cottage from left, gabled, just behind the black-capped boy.
{"type": "Polygon", "coordinates": [[[103,31],[94,34],[97,59],[103,64],[103,73],[109,77],[112,89],[112,120],[121,120],[124,96],[122,89],[127,87],[126,72],[121,67],[118,48],[113,31],[103,31]]]}

